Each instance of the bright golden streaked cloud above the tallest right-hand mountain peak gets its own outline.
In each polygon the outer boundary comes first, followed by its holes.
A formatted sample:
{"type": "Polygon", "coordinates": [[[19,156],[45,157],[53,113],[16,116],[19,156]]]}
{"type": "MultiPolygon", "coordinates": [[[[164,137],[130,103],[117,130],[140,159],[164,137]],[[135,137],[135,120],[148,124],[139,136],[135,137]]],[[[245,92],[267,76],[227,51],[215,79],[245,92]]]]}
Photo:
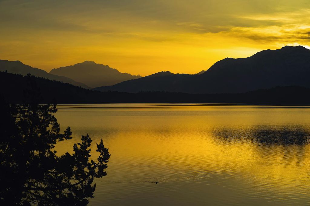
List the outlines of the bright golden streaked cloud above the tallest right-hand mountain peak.
{"type": "Polygon", "coordinates": [[[230,27],[227,31],[236,38],[246,38],[259,43],[300,43],[309,44],[310,10],[279,12],[272,14],[256,14],[236,16],[237,19],[250,21],[251,26],[230,27]]]}

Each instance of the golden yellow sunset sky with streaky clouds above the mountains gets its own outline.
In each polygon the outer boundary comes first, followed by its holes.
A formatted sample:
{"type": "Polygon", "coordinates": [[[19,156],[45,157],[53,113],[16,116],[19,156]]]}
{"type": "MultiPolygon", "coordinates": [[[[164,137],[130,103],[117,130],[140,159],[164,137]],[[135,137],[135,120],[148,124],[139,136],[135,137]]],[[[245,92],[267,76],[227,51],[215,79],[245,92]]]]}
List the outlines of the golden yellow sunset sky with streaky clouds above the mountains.
{"type": "Polygon", "coordinates": [[[0,0],[0,59],[48,72],[88,60],[195,74],[309,40],[309,0],[0,0]]]}

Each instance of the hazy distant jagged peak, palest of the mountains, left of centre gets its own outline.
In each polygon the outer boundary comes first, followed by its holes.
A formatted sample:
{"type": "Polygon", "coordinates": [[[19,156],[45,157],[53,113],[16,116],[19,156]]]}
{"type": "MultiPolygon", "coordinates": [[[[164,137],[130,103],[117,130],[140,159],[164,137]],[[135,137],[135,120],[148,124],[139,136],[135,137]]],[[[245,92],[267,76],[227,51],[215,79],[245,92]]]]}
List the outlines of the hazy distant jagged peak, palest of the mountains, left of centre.
{"type": "Polygon", "coordinates": [[[109,86],[141,77],[140,75],[121,73],[108,65],[96,64],[93,61],[84,61],[75,65],[52,69],[50,74],[66,76],[91,87],[109,86]]]}

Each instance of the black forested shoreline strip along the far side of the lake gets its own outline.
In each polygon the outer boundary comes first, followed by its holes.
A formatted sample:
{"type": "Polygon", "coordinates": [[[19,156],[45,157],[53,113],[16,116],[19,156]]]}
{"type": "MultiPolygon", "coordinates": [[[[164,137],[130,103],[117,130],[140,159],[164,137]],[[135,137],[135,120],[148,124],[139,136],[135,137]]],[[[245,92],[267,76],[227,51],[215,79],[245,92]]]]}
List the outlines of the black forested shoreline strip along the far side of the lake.
{"type": "MultiPolygon", "coordinates": [[[[310,89],[274,87],[242,94],[187,94],[148,91],[127,93],[93,91],[68,83],[31,76],[41,89],[42,103],[241,103],[254,105],[310,105],[310,89]]],[[[1,95],[10,103],[22,103],[27,77],[0,72],[1,95]]]]}

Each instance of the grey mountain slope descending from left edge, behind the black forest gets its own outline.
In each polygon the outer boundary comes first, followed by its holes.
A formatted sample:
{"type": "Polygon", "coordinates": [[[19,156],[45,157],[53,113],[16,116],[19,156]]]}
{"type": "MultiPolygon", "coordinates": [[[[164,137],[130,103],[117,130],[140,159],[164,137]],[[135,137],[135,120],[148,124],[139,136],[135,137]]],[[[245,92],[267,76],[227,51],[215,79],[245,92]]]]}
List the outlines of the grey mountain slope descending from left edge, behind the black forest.
{"type": "Polygon", "coordinates": [[[30,73],[31,75],[34,75],[36,77],[47,78],[47,79],[55,80],[55,81],[63,81],[65,83],[69,83],[75,86],[81,86],[83,88],[90,89],[90,87],[88,87],[87,85],[83,83],[75,82],[74,80],[67,78],[67,77],[49,74],[42,69],[38,69],[38,68],[31,67],[29,65],[25,65],[20,61],[0,60],[0,71],[5,71],[5,70],[7,70],[8,73],[21,74],[23,76],[30,73]]]}

